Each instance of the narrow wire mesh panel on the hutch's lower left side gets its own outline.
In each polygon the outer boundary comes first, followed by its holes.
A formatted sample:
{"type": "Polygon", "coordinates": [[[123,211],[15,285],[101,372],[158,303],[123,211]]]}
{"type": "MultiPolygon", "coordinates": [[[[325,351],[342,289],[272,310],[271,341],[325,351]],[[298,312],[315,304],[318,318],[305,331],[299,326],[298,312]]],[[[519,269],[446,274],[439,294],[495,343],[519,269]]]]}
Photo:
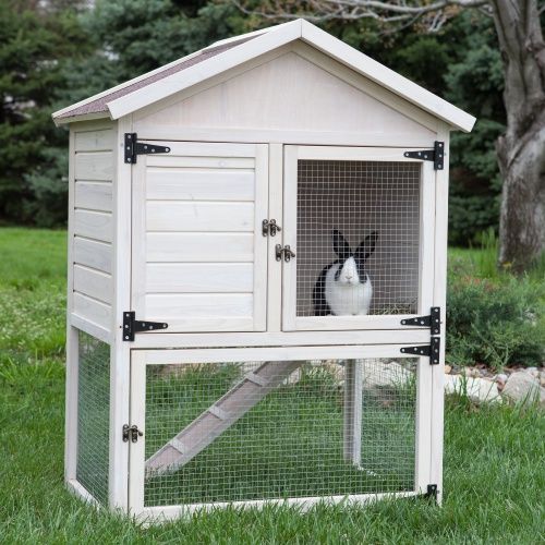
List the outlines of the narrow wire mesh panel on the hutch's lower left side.
{"type": "Polygon", "coordinates": [[[108,502],[110,347],[80,331],[76,479],[108,502]]]}

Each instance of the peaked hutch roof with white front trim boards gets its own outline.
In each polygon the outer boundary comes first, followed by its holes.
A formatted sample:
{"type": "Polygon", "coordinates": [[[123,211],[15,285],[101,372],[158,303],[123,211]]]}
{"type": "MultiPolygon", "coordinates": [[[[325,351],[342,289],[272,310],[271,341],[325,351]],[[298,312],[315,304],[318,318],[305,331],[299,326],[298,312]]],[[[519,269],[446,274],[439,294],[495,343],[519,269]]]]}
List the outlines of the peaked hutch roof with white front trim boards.
{"type": "Polygon", "coordinates": [[[475,118],[386,68],[313,24],[296,20],[220,40],[153,72],[52,114],[57,124],[78,119],[119,119],[286,44],[301,39],[409,102],[470,132],[475,118]]]}

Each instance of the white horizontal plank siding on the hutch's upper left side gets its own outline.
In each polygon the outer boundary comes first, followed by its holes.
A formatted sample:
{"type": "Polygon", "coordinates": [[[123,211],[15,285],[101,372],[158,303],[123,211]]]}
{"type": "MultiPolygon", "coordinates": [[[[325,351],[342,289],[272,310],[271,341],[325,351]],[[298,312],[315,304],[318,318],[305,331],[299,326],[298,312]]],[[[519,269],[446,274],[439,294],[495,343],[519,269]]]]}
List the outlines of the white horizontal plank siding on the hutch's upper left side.
{"type": "Polygon", "coordinates": [[[82,123],[73,132],[71,203],[71,312],[105,332],[111,330],[113,171],[112,123],[82,123]]]}

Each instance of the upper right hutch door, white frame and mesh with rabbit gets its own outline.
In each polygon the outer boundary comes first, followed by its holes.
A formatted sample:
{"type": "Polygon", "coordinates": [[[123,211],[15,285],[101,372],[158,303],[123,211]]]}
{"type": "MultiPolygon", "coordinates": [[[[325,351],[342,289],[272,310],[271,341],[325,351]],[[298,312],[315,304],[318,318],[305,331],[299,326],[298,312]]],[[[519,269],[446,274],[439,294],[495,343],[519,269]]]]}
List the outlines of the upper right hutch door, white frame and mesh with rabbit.
{"type": "Polygon", "coordinates": [[[283,329],[399,328],[432,306],[434,170],[402,149],[287,146],[283,329]]]}

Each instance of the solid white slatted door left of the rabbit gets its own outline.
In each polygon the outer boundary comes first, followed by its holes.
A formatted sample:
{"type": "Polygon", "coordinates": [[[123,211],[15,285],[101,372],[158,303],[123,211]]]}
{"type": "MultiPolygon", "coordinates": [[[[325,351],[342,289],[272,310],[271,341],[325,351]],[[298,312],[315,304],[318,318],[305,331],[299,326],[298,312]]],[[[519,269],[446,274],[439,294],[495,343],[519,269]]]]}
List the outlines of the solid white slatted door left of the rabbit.
{"type": "Polygon", "coordinates": [[[263,331],[266,145],[169,142],[133,167],[133,308],[169,332],[263,331]]]}

